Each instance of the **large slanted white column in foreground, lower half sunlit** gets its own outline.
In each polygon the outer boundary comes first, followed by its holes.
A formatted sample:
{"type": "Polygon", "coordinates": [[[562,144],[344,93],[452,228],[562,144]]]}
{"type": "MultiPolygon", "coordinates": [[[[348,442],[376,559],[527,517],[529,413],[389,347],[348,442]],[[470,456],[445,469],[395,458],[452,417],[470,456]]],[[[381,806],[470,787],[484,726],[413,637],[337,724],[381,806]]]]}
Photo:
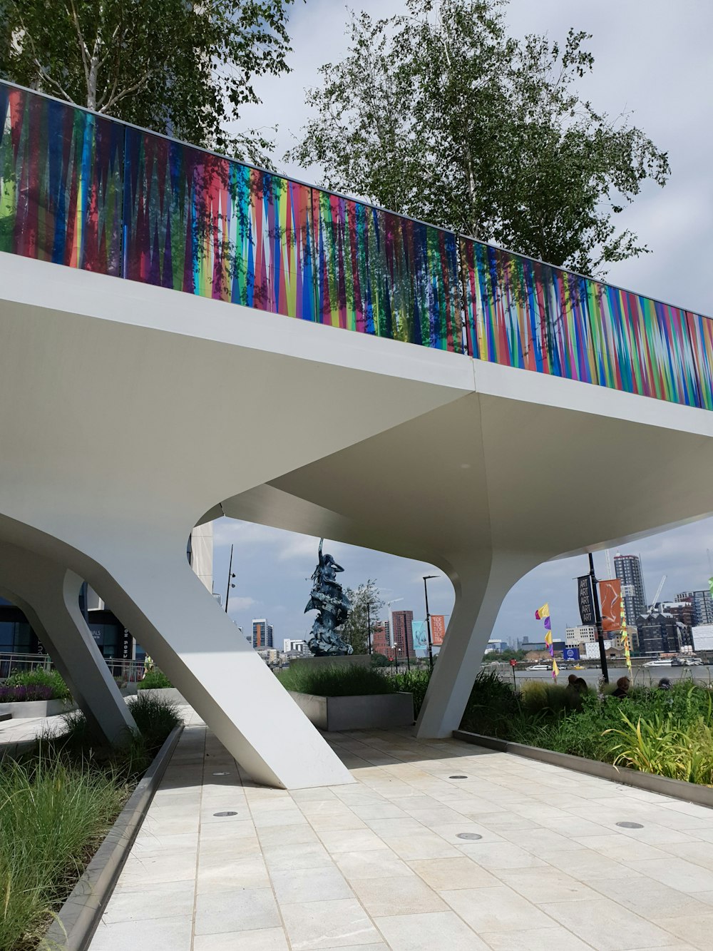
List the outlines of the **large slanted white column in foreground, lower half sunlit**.
{"type": "Polygon", "coordinates": [[[183,553],[137,546],[118,560],[125,550],[118,543],[110,566],[106,558],[110,575],[97,587],[241,767],[267,786],[353,783],[183,553]]]}

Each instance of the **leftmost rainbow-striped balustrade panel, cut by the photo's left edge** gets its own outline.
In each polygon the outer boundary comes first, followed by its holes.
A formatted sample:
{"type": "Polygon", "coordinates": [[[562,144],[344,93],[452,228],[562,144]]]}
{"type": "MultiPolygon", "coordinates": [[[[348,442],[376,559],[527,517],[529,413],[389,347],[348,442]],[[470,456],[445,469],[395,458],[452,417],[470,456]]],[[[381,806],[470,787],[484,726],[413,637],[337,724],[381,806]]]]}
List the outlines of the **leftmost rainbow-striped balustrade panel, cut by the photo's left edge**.
{"type": "Polygon", "coordinates": [[[124,126],[0,83],[0,251],[121,276],[124,126]]]}

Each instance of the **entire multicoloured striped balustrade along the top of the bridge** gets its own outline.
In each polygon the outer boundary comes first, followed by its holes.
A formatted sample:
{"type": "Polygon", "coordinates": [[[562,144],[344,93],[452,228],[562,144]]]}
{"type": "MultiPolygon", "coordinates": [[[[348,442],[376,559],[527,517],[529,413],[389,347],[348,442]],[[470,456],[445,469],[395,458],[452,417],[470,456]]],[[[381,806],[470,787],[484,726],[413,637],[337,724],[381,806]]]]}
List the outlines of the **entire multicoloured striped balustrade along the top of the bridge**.
{"type": "Polygon", "coordinates": [[[3,83],[0,250],[713,410],[713,320],[3,83]]]}

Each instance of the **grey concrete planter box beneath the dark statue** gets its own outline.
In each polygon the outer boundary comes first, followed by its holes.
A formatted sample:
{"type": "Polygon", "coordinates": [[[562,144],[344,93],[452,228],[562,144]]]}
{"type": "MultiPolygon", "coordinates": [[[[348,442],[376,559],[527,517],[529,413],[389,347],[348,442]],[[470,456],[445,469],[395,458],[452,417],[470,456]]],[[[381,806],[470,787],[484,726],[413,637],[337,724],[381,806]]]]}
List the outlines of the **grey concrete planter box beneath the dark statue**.
{"type": "Polygon", "coordinates": [[[307,719],[328,732],[410,727],[414,723],[413,693],[318,697],[314,693],[288,692],[307,719]]]}

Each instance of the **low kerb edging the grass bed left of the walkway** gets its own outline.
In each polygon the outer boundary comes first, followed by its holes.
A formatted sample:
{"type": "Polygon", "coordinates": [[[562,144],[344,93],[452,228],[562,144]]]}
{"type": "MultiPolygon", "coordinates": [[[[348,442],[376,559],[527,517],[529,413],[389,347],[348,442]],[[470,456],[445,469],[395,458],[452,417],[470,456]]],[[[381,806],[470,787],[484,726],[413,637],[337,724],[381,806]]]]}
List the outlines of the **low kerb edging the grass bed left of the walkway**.
{"type": "Polygon", "coordinates": [[[40,941],[40,951],[87,951],[182,732],[183,726],[180,726],[168,734],[164,746],[40,941]]]}

